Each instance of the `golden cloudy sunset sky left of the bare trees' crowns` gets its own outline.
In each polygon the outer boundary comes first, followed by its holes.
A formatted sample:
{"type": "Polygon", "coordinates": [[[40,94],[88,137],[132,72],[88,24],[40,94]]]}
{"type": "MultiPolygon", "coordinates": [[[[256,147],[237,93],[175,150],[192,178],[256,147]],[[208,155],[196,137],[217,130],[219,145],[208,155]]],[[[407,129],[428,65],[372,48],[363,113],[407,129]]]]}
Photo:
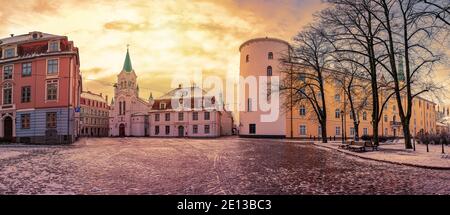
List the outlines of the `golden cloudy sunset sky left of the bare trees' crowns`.
{"type": "Polygon", "coordinates": [[[174,75],[235,77],[244,41],[290,41],[321,7],[320,0],[10,0],[2,1],[0,38],[68,36],[80,49],[84,90],[110,98],[130,44],[140,96],[148,98],[169,90],[174,75]]]}

